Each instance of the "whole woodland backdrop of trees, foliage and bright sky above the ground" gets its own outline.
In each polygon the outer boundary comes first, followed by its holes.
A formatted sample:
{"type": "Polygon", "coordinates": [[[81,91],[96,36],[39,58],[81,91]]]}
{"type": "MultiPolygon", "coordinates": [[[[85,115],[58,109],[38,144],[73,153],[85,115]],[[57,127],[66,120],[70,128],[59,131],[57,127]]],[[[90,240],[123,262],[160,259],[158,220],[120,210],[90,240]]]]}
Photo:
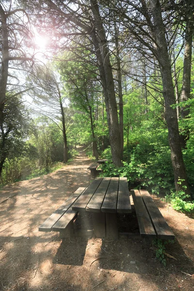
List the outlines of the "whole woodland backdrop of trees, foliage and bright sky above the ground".
{"type": "Polygon", "coordinates": [[[78,146],[194,210],[192,0],[0,1],[0,184],[78,146]]]}

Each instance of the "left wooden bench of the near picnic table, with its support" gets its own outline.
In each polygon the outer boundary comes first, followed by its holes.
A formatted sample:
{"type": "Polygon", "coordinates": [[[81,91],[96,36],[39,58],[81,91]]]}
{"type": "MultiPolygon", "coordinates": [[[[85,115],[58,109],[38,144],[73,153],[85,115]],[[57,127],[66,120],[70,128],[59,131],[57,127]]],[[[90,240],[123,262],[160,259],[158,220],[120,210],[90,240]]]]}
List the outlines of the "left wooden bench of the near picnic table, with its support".
{"type": "Polygon", "coordinates": [[[86,188],[80,187],[72,194],[49,218],[39,226],[39,231],[59,231],[61,236],[69,237],[73,232],[73,220],[76,218],[78,211],[72,210],[72,206],[84,192],[86,188]]]}

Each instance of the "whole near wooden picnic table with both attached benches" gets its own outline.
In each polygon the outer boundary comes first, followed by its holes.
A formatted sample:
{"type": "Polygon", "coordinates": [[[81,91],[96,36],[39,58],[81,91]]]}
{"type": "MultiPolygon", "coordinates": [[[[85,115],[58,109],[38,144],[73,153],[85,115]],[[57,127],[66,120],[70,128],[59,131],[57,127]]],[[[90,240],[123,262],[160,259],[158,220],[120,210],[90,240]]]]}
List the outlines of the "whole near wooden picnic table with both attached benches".
{"type": "MultiPolygon", "coordinates": [[[[131,190],[142,238],[174,240],[175,236],[146,190],[131,190]]],[[[59,231],[62,237],[75,235],[73,221],[81,212],[93,213],[97,238],[118,239],[117,213],[131,212],[127,178],[96,178],[88,188],[80,187],[39,226],[39,231],[59,231]]],[[[83,231],[91,235],[91,231],[83,231]]],[[[78,232],[76,232],[76,235],[78,232]]]]}

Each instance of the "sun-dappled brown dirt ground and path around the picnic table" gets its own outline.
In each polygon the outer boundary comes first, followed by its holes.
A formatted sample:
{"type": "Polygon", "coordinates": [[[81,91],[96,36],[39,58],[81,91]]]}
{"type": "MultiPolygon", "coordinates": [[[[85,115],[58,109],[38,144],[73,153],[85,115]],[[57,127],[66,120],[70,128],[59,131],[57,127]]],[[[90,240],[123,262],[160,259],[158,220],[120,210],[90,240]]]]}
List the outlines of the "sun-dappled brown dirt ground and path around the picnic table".
{"type": "Polygon", "coordinates": [[[69,240],[38,231],[70,194],[91,183],[91,162],[80,153],[49,175],[0,189],[0,202],[16,194],[0,203],[0,291],[194,291],[194,219],[159,197],[153,196],[176,236],[166,267],[151,242],[69,240]]]}

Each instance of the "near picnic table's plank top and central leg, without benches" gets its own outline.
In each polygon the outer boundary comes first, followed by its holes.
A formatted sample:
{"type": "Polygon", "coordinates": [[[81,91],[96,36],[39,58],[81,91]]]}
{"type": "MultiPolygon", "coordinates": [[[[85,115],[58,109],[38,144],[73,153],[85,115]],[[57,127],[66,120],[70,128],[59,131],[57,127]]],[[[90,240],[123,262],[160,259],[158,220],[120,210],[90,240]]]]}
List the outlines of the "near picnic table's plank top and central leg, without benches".
{"type": "Polygon", "coordinates": [[[117,239],[116,213],[131,212],[127,178],[96,178],[80,195],[72,210],[93,212],[96,237],[117,239]]]}

